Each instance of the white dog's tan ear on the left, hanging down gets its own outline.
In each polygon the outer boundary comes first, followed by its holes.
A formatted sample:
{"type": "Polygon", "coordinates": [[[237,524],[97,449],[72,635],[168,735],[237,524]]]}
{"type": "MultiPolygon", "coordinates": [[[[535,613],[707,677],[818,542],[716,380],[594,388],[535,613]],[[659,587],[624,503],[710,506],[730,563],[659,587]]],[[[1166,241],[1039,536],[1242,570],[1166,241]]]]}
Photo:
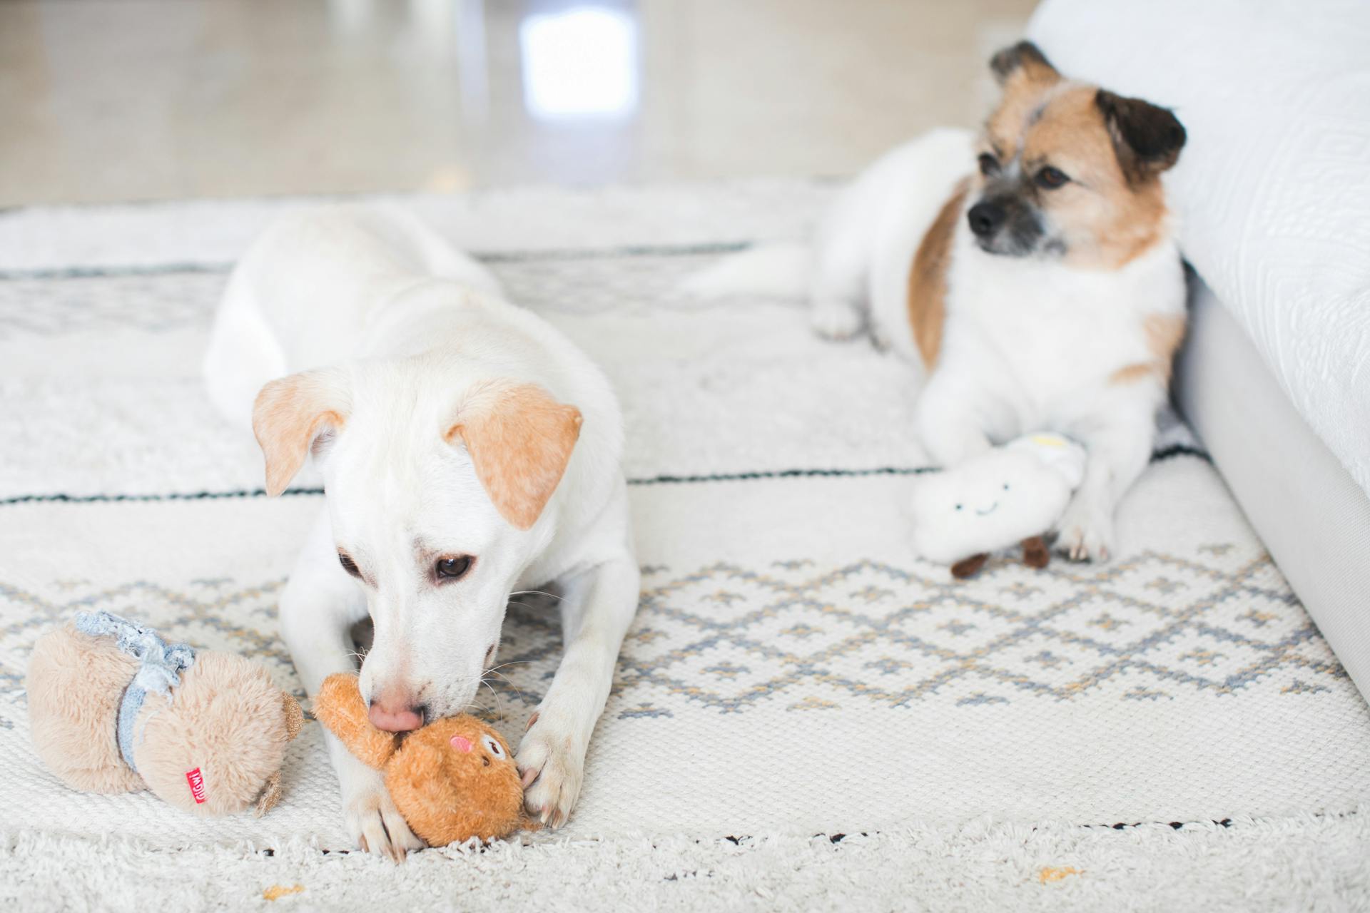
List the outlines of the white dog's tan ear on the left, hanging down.
{"type": "Polygon", "coordinates": [[[252,407],[252,433],[266,457],[266,493],[281,494],[304,465],[321,433],[341,431],[351,397],[341,375],[329,368],[271,381],[252,407]]]}

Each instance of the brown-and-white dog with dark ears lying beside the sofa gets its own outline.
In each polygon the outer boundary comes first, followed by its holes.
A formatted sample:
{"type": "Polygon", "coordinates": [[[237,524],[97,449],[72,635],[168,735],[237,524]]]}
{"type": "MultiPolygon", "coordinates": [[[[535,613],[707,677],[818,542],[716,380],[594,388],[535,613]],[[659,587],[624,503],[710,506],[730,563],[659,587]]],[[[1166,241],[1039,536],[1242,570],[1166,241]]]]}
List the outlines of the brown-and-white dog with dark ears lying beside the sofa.
{"type": "Polygon", "coordinates": [[[803,277],[821,334],[869,327],[922,367],[917,430],[941,465],[1036,430],[1077,438],[1089,463],[1059,545],[1104,560],[1184,335],[1160,174],[1185,130],[1026,41],[991,68],[1003,97],[978,137],[937,130],[886,153],[803,252],[747,252],[689,287],[784,293],[803,277]]]}

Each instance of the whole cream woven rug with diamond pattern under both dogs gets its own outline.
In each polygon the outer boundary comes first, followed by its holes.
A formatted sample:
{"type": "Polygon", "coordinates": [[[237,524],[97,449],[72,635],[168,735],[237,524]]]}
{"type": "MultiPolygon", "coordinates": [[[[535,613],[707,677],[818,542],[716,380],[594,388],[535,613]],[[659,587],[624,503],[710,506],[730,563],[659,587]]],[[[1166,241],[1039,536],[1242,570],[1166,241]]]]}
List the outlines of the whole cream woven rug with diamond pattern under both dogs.
{"type": "MultiPolygon", "coordinates": [[[[644,571],[571,824],[400,872],[342,853],[316,724],[260,820],[71,793],[29,747],[27,652],[81,609],[253,656],[299,691],[275,601],[322,496],[308,475],[262,496],[199,357],[233,257],[300,201],[0,215],[0,898],[95,905],[156,877],[230,908],[384,886],[441,906],[448,883],[553,908],[1363,901],[1370,712],[1182,426],[1122,506],[1115,561],[995,560],[954,583],[907,543],[908,370],[819,342],[797,307],[674,292],[795,237],[829,193],[400,198],[615,381],[644,571]]],[[[511,606],[501,650],[485,701],[516,741],[555,612],[511,606]]]]}

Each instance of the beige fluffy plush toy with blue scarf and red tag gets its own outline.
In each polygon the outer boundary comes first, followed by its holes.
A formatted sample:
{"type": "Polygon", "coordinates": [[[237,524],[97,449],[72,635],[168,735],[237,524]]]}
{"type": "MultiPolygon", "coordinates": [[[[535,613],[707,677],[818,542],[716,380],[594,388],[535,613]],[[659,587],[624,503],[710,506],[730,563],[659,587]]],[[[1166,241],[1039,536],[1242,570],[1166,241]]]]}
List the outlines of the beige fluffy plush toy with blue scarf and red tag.
{"type": "Polygon", "coordinates": [[[33,746],[67,786],[147,788],[199,816],[275,805],[304,720],[260,665],[108,612],[42,635],[25,687],[33,746]]]}

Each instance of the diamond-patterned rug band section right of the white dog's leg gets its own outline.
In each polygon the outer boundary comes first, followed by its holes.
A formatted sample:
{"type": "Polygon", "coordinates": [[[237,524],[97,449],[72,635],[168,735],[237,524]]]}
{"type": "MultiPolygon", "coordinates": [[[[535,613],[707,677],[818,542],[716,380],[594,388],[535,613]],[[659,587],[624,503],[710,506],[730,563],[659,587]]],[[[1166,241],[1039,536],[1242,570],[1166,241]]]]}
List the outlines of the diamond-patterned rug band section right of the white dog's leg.
{"type": "Polygon", "coordinates": [[[615,694],[741,713],[796,694],[900,706],[945,697],[956,680],[975,682],[971,704],[982,704],[1138,697],[1128,672],[1144,673],[1147,697],[1344,679],[1288,589],[1265,586],[1269,567],[1265,554],[1199,564],[1147,552],[1038,575],[999,561],[969,584],[874,561],[719,563],[669,579],[653,568],[615,694]]]}

